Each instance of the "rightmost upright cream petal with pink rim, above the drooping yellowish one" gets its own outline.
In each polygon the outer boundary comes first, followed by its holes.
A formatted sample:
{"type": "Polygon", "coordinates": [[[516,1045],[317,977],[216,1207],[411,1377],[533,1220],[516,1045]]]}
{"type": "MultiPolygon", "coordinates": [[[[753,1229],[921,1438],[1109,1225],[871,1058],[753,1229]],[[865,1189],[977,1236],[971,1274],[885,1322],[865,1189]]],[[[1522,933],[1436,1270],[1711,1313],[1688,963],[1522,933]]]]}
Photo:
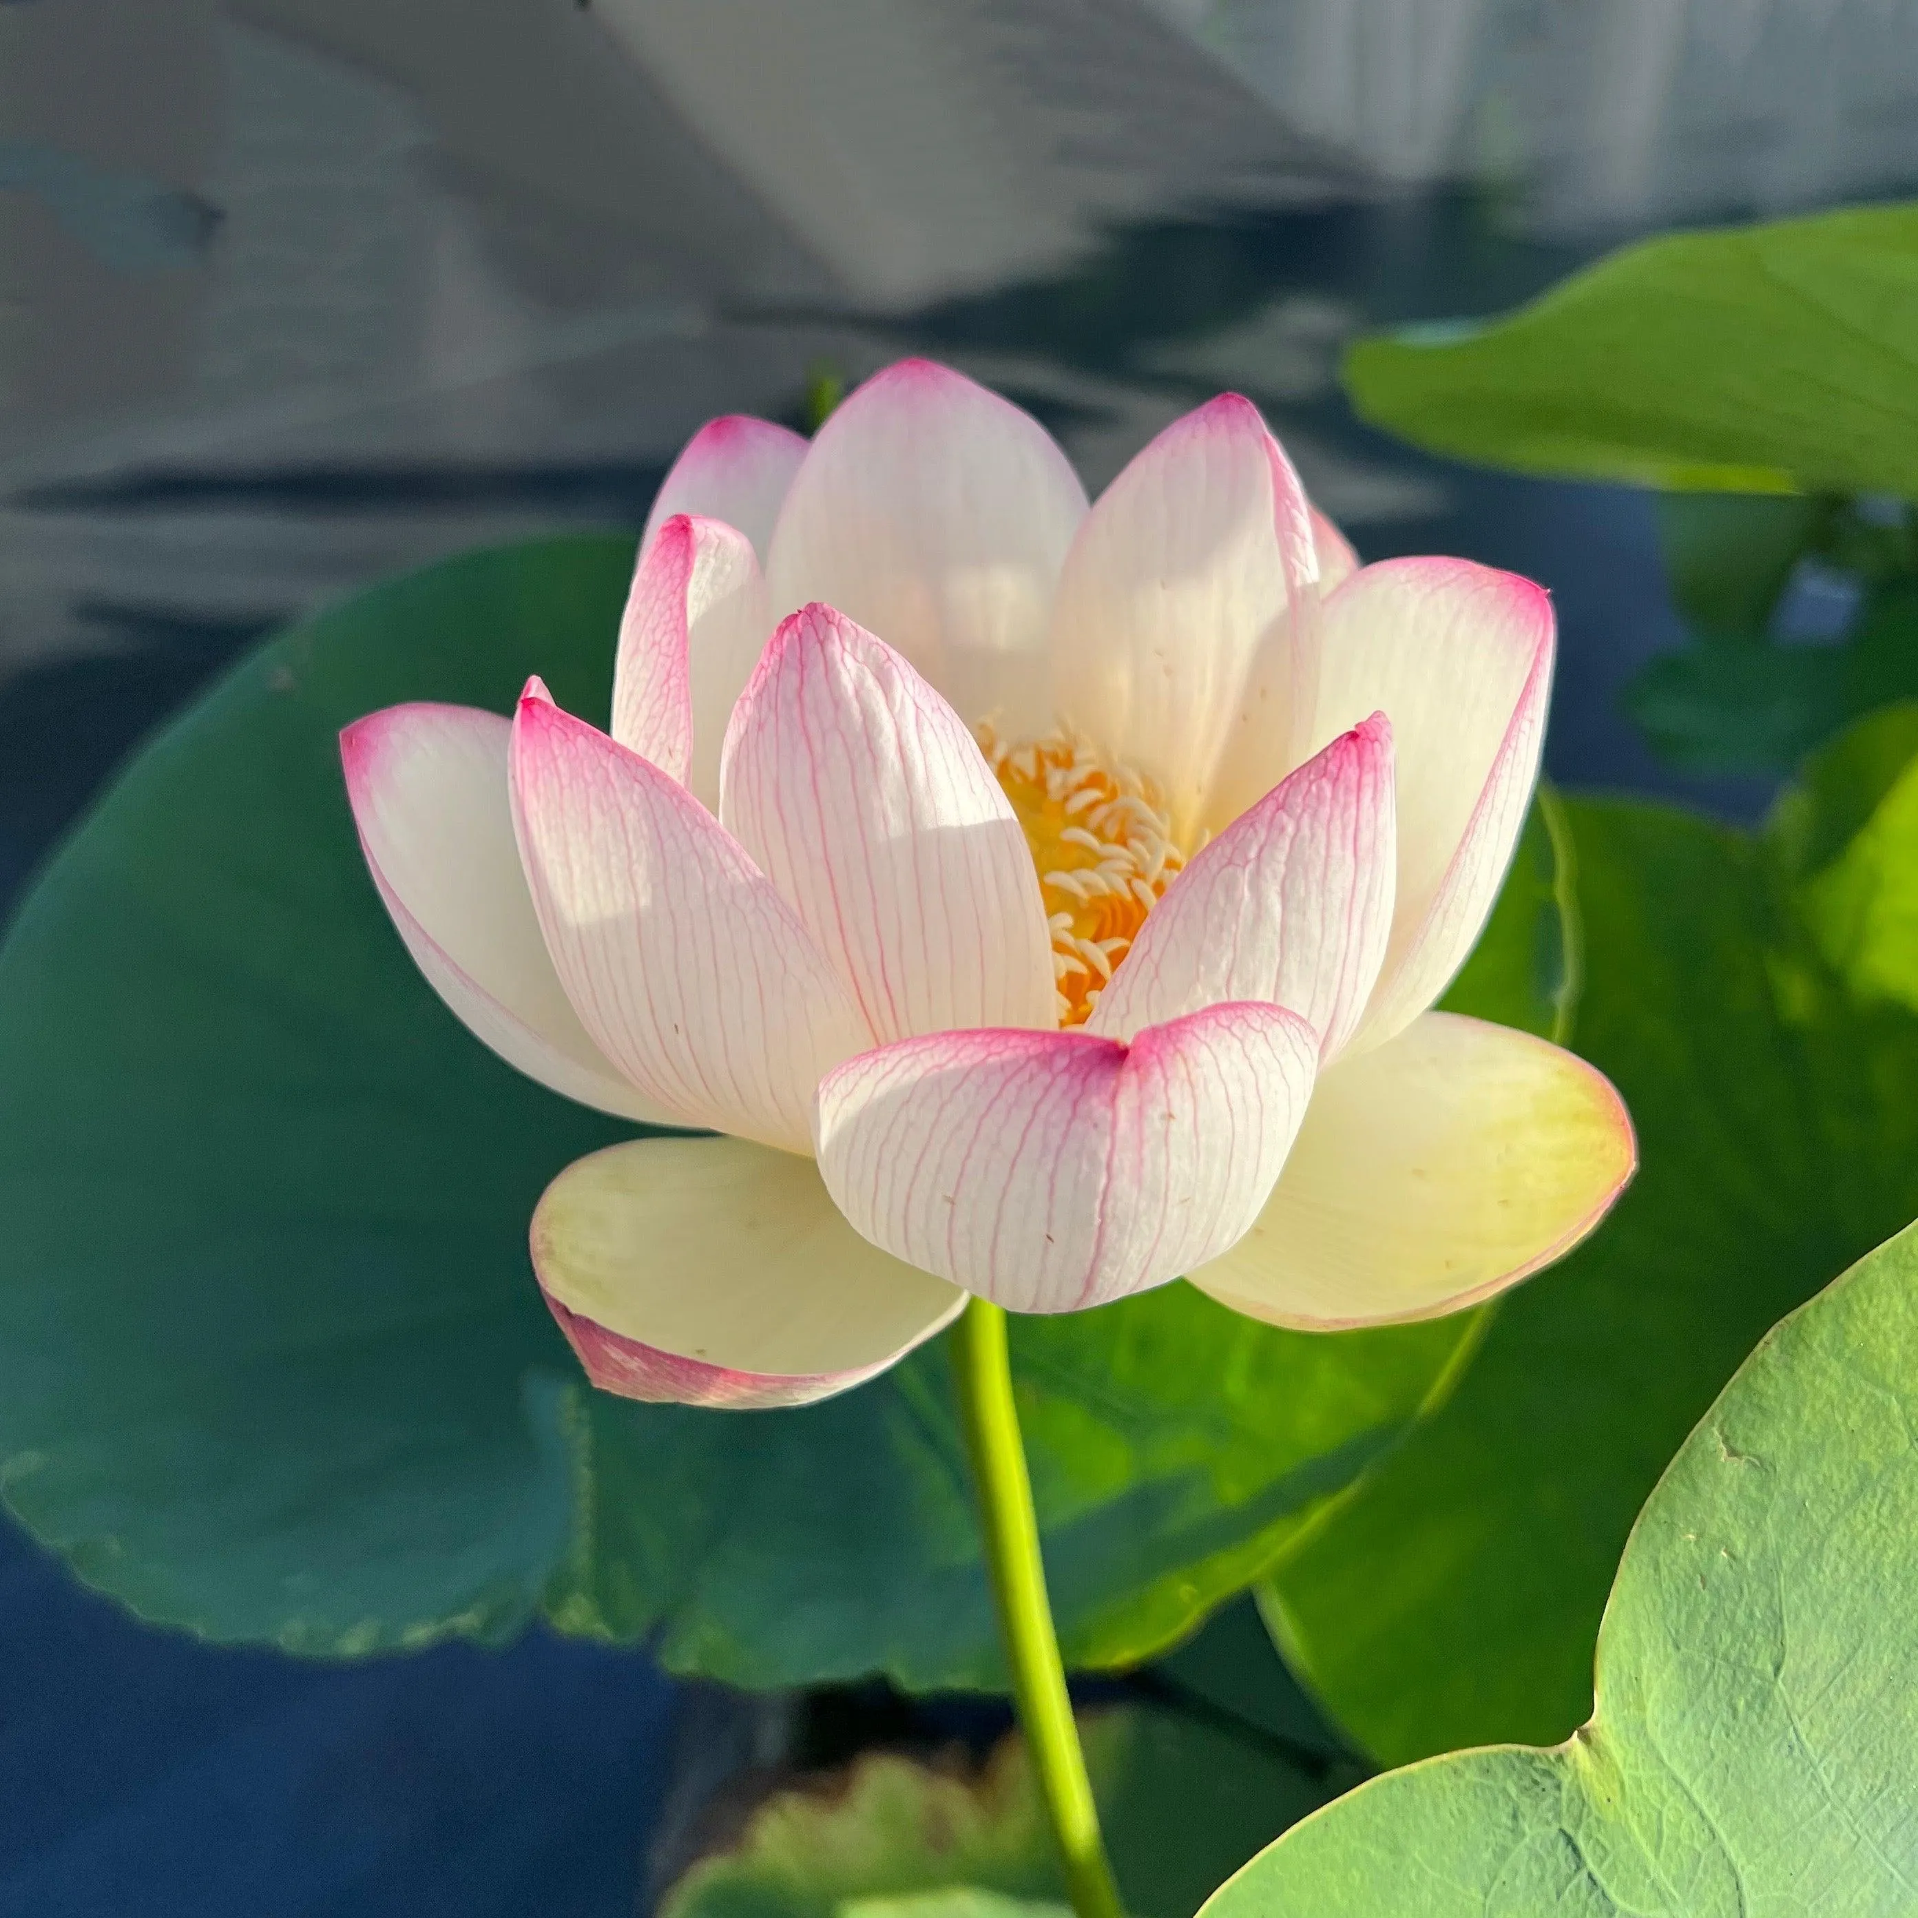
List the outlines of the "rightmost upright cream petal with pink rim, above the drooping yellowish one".
{"type": "Polygon", "coordinates": [[[1360,1045],[1423,1013],[1485,930],[1538,781],[1552,644],[1544,589],[1469,560],[1385,560],[1325,602],[1318,738],[1383,710],[1398,752],[1398,905],[1360,1045]]]}

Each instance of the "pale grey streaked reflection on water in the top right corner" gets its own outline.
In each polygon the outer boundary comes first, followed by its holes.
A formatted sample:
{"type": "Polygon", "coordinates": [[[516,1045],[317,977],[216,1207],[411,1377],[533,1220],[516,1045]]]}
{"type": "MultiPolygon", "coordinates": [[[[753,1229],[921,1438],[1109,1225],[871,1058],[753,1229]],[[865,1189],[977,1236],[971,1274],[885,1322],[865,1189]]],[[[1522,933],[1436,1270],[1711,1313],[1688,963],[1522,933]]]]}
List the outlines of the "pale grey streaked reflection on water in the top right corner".
{"type": "Polygon", "coordinates": [[[1158,0],[1377,176],[1504,180],[1532,230],[1788,213],[1918,173],[1908,0],[1158,0]]]}

